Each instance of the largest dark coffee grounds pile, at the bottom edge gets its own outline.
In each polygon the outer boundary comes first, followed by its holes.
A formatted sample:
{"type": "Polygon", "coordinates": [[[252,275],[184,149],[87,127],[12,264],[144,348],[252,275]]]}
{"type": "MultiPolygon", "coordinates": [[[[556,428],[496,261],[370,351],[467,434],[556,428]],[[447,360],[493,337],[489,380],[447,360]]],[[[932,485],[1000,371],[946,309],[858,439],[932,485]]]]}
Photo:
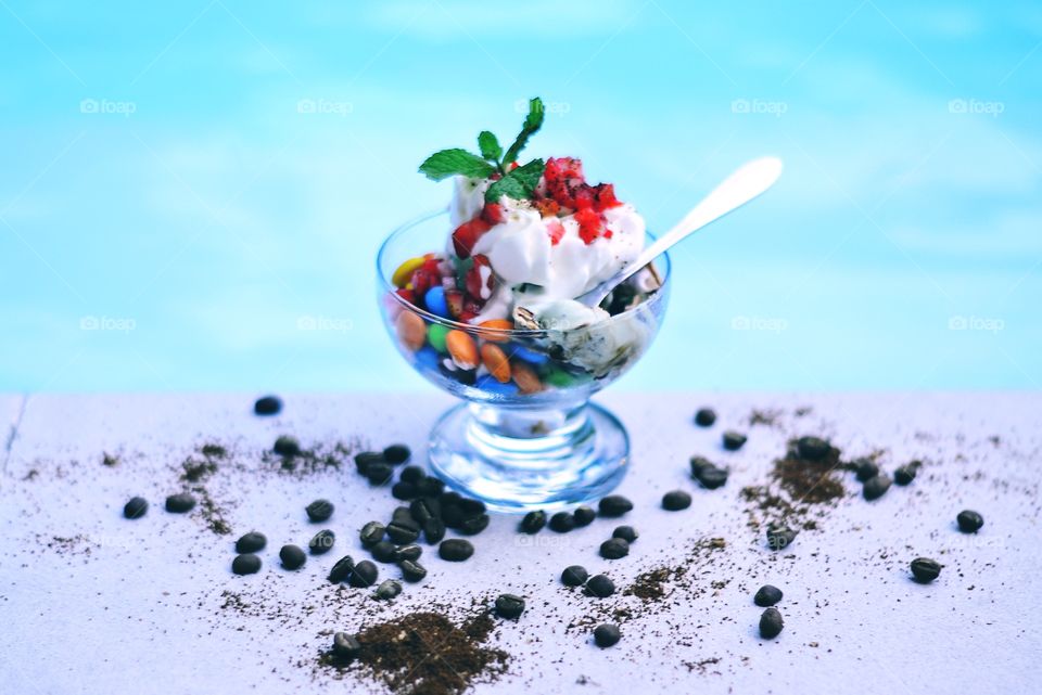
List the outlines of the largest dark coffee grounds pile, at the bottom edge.
{"type": "Polygon", "coordinates": [[[356,659],[344,660],[329,651],[319,664],[361,670],[394,693],[458,695],[506,672],[509,656],[485,645],[493,627],[487,612],[460,625],[441,613],[414,613],[359,632],[361,653],[356,659]]]}

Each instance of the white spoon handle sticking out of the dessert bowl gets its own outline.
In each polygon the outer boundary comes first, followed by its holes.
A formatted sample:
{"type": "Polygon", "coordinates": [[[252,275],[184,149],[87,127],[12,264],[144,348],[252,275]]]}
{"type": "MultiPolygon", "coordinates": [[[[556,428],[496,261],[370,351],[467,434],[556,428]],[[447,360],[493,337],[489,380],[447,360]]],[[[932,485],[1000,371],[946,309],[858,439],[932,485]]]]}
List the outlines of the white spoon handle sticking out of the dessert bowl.
{"type": "Polygon", "coordinates": [[[744,164],[713,189],[673,229],[645,248],[636,260],[584,294],[580,301],[590,307],[597,306],[618,284],[625,282],[674,244],[759,196],[774,185],[779,176],[782,176],[782,160],[777,157],[760,157],[744,164]],[[594,299],[596,301],[593,301],[594,299]]]}

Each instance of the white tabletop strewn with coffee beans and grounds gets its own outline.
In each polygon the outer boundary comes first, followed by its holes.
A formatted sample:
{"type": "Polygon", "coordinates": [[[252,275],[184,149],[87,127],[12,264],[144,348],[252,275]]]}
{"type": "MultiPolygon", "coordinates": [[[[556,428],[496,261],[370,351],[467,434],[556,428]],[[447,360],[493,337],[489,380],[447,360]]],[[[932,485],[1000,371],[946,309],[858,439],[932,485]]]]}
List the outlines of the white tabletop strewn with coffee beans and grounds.
{"type": "MultiPolygon", "coordinates": [[[[356,557],[356,529],[385,520],[397,504],[348,466],[295,478],[251,475],[279,434],[302,443],[360,439],[423,451],[434,417],[449,403],[439,395],[284,397],[278,417],[252,414],[249,395],[0,397],[0,432],[17,423],[2,477],[0,506],[0,677],[8,693],[384,692],[314,669],[330,629],[358,630],[360,590],[336,592],[325,581],[342,554],[356,557]],[[20,419],[21,413],[21,421],[20,419]],[[166,514],[177,488],[175,467],[194,447],[229,445],[246,471],[219,473],[215,497],[232,506],[234,533],[218,537],[198,518],[166,514]],[[102,465],[103,452],[118,454],[102,465]],[[36,471],[30,475],[31,471],[36,471]],[[148,515],[122,518],[134,494],[148,515]],[[333,552],[290,574],[278,563],[282,543],[306,544],[316,527],[303,506],[317,497],[336,504],[329,526],[333,552]],[[231,545],[256,528],[268,537],[258,575],[230,572],[231,545]],[[55,537],[75,539],[55,543],[55,537]],[[245,614],[223,609],[223,592],[247,599],[245,614]],[[344,596],[347,596],[344,599],[344,596]]],[[[498,683],[478,693],[634,693],[679,685],[699,693],[983,693],[1033,692],[1042,655],[1042,395],[872,394],[647,395],[609,392],[599,401],[630,428],[634,464],[620,492],[636,509],[624,522],[598,519],[537,542],[514,531],[517,519],[494,516],[467,563],[440,561],[419,585],[384,608],[386,617],[439,601],[458,606],[504,591],[528,599],[517,623],[504,622],[493,643],[511,655],[498,683]],[[710,429],[690,424],[695,409],[720,413],[710,429]],[[810,414],[797,416],[800,407],[810,414]],[[752,409],[783,411],[776,426],[749,426],[752,409]],[[723,452],[726,427],[749,434],[737,453],[723,452]],[[850,456],[885,449],[891,469],[927,462],[907,488],[881,500],[849,495],[827,512],[821,530],[804,531],[789,552],[773,553],[747,526],[739,490],[765,480],[788,437],[824,434],[850,456]],[[991,437],[997,436],[997,443],[991,437]],[[692,453],[732,467],[727,486],[697,488],[687,474],[692,453]],[[661,494],[689,490],[689,510],[661,510],[661,494]],[[980,533],[954,529],[962,509],[981,512],[980,533]],[[597,556],[619,523],[640,531],[631,555],[597,556]],[[593,646],[569,630],[595,600],[557,580],[570,564],[607,569],[624,585],[639,571],[678,558],[702,537],[725,550],[696,565],[692,588],[622,626],[613,648],[593,646]],[[910,580],[919,555],[945,565],[930,585],[910,580]],[[712,588],[712,582],[726,582],[712,588]],[[762,641],[761,609],[751,602],[770,582],[785,592],[785,630],[762,641]],[[686,665],[708,662],[702,668],[686,665]]],[[[382,577],[397,577],[381,566],[382,577]]],[[[606,600],[636,605],[632,597],[606,600]]],[[[365,604],[369,605],[369,604],[365,604]]],[[[597,606],[598,608],[602,606],[597,606]]]]}

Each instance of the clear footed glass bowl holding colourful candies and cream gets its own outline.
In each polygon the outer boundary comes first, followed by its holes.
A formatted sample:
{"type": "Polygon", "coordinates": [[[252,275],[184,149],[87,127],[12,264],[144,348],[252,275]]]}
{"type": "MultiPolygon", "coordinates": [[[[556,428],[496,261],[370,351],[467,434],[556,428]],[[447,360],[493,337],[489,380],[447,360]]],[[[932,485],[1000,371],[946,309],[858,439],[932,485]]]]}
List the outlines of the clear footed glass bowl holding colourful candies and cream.
{"type": "Polygon", "coordinates": [[[445,210],[425,215],[395,230],[377,257],[379,303],[394,345],[428,381],[463,400],[431,432],[431,468],[449,487],[499,511],[603,497],[626,473],[630,438],[589,398],[633,366],[658,332],[669,299],[669,257],[643,271],[658,288],[606,321],[507,330],[454,321],[398,292],[407,275],[403,263],[444,255],[450,231],[445,210]]]}

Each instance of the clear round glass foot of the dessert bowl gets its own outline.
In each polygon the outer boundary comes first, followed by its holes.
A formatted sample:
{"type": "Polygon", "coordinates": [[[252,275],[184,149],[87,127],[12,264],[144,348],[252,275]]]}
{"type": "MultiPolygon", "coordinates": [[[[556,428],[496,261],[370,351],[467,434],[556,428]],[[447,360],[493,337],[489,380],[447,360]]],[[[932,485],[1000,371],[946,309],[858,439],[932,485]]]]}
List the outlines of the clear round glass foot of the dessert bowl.
{"type": "Polygon", "coordinates": [[[528,512],[590,502],[626,474],[630,437],[595,404],[532,411],[462,403],[430,438],[433,472],[492,510],[528,512]]]}

